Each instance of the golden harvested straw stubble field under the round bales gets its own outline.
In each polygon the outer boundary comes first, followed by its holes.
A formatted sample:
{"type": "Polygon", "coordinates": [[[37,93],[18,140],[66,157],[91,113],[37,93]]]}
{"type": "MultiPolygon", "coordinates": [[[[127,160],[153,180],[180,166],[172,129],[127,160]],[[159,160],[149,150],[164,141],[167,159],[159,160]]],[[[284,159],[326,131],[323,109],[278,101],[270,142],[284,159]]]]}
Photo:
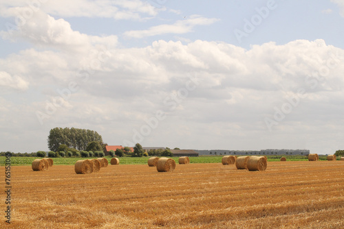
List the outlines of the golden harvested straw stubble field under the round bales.
{"type": "Polygon", "coordinates": [[[344,228],[344,162],[268,162],[266,171],[177,164],[161,173],[109,165],[89,174],[18,166],[11,207],[6,228],[344,228]]]}

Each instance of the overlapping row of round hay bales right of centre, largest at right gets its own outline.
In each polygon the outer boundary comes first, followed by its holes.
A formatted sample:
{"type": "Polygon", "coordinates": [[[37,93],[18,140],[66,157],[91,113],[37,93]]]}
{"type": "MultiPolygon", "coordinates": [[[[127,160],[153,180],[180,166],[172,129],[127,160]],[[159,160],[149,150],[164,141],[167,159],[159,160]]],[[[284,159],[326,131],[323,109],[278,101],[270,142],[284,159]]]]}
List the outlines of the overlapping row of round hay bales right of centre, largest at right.
{"type": "Polygon", "coordinates": [[[249,171],[264,171],[268,165],[266,156],[224,156],[222,165],[235,165],[237,169],[249,171]]]}

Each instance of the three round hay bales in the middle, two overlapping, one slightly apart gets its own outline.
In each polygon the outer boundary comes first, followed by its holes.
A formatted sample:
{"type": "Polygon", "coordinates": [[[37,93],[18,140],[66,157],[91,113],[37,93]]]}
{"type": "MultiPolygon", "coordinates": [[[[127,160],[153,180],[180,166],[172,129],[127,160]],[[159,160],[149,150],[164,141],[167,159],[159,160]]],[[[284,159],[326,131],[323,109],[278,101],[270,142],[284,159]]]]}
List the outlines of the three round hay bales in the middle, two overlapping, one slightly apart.
{"type": "MultiPolygon", "coordinates": [[[[178,158],[180,165],[190,164],[190,159],[187,156],[181,156],[178,158]]],[[[158,158],[153,156],[148,159],[147,164],[149,167],[156,167],[160,172],[173,171],[175,169],[175,160],[171,158],[158,158]]]]}

